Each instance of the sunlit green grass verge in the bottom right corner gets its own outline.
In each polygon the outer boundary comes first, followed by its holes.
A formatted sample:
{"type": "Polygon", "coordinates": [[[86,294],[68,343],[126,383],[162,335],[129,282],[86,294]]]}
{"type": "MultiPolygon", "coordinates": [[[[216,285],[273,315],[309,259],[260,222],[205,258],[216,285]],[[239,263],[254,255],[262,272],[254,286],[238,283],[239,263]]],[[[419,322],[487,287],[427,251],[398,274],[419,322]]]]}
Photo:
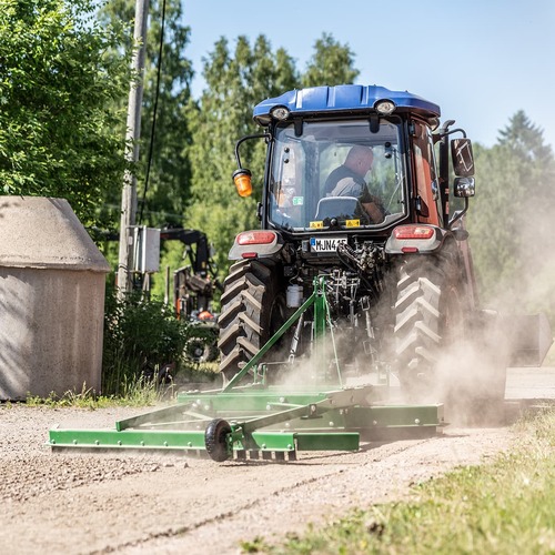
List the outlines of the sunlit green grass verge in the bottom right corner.
{"type": "Polygon", "coordinates": [[[280,546],[244,542],[243,553],[555,554],[555,407],[517,430],[511,453],[416,486],[408,502],[352,512],[280,546]]]}

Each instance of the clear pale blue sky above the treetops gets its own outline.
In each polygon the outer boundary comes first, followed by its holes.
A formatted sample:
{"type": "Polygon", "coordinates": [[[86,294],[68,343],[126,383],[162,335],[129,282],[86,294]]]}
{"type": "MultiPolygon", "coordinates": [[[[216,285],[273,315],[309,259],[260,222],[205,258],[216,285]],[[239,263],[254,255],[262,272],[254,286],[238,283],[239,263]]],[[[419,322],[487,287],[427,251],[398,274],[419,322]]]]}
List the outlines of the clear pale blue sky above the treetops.
{"type": "MultiPolygon", "coordinates": [[[[193,95],[202,60],[225,37],[259,34],[303,71],[322,33],[354,53],[359,84],[407,90],[456,120],[473,141],[495,144],[524,110],[555,149],[555,0],[183,0],[191,28],[193,95]]],[[[263,99],[261,99],[263,100],[263,99]]]]}

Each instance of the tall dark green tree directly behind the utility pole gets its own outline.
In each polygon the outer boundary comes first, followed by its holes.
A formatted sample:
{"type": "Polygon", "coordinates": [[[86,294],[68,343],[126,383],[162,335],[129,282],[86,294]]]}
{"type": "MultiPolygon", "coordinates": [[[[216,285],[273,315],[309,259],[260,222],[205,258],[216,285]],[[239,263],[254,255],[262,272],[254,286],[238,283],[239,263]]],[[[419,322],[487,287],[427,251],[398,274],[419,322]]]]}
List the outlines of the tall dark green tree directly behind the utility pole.
{"type": "MultiPolygon", "coordinates": [[[[151,0],[149,11],[140,163],[135,168],[138,224],[179,225],[182,224],[191,180],[186,150],[191,134],[188,120],[183,118],[193,77],[191,61],[186,58],[190,28],[183,24],[180,0],[151,0]]],[[[133,0],[113,1],[102,10],[102,20],[107,24],[128,22],[125,41],[119,49],[129,56],[134,48],[133,17],[133,0]]],[[[122,132],[124,123],[122,119],[122,132]]],[[[112,205],[118,205],[119,199],[120,194],[114,196],[112,205]]]]}

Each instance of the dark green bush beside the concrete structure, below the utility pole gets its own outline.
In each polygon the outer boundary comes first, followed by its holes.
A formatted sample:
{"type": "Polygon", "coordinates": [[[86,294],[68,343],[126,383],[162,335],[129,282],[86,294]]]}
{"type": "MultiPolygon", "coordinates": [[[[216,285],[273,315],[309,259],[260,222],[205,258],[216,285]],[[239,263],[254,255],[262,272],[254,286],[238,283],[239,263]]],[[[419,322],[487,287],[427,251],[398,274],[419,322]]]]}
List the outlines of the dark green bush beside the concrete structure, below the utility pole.
{"type": "Polygon", "coordinates": [[[143,301],[140,293],[120,299],[110,291],[104,311],[103,394],[128,394],[141,385],[141,379],[157,380],[165,364],[179,367],[188,331],[171,306],[143,301]]]}

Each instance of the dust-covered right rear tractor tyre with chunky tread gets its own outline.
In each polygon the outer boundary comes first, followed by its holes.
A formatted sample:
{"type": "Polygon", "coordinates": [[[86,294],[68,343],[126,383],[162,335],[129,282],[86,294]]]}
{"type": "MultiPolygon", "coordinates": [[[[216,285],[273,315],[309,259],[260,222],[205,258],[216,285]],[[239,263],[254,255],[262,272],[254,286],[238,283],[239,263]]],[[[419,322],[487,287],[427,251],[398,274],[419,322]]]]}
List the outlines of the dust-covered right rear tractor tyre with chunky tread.
{"type": "Polygon", "coordinates": [[[431,402],[445,394],[438,391],[448,366],[445,355],[456,356],[465,337],[464,289],[454,275],[447,261],[432,256],[417,255],[400,266],[394,337],[407,401],[431,402]]]}

